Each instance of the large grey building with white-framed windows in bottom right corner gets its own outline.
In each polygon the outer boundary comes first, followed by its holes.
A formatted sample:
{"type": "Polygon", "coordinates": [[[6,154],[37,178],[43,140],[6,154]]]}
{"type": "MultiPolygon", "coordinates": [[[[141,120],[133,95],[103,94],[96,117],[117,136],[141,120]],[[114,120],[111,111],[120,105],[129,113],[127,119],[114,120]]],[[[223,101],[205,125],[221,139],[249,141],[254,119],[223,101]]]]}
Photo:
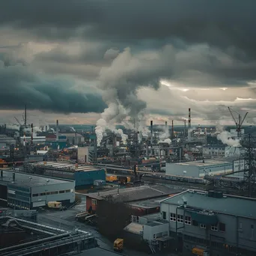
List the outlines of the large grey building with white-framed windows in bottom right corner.
{"type": "Polygon", "coordinates": [[[185,256],[256,255],[255,198],[187,190],[161,201],[160,209],[185,256]]]}

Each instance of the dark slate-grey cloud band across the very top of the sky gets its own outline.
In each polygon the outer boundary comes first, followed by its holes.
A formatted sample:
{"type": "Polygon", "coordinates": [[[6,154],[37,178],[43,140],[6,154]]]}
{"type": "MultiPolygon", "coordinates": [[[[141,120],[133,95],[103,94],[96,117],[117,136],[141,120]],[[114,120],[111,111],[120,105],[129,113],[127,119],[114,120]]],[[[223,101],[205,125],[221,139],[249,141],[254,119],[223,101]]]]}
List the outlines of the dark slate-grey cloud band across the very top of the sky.
{"type": "Polygon", "coordinates": [[[47,37],[81,33],[125,42],[172,37],[255,53],[255,10],[255,0],[10,0],[1,7],[0,24],[47,37]]]}

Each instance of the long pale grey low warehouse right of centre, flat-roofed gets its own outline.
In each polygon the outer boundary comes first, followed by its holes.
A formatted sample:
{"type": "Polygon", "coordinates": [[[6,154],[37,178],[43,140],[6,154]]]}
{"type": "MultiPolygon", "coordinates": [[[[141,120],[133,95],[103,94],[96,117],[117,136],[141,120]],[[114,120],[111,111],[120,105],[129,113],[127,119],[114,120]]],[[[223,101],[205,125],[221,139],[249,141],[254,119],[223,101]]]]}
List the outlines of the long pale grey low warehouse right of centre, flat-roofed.
{"type": "Polygon", "coordinates": [[[166,163],[165,173],[184,177],[203,178],[204,175],[230,174],[233,172],[233,163],[216,160],[200,160],[190,162],[166,163]]]}

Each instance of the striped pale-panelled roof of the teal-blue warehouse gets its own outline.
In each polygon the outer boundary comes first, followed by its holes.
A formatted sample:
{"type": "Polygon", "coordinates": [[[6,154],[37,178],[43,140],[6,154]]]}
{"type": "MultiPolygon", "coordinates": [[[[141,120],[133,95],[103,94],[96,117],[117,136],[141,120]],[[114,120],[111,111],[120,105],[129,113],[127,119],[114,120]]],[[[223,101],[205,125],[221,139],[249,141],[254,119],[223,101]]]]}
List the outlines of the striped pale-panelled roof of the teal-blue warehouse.
{"type": "Polygon", "coordinates": [[[73,164],[72,162],[34,162],[34,167],[55,168],[58,171],[99,171],[103,168],[95,168],[91,165],[73,164]]]}

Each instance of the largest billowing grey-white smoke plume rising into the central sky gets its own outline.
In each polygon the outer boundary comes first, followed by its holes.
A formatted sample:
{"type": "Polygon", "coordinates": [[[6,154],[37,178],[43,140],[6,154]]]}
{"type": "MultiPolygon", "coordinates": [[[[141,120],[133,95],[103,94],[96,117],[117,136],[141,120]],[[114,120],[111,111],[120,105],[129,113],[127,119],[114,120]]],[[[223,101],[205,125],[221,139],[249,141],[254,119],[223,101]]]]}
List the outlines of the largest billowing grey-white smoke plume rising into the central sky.
{"type": "MultiPolygon", "coordinates": [[[[103,132],[112,129],[115,124],[124,124],[127,120],[132,120],[135,126],[132,128],[147,134],[142,124],[144,109],[147,104],[137,97],[137,91],[141,87],[159,88],[161,76],[170,73],[174,60],[174,52],[171,46],[166,46],[159,52],[144,52],[139,55],[132,55],[129,48],[124,49],[112,61],[109,67],[103,67],[100,71],[100,88],[103,90],[103,100],[108,105],[101,115],[101,119],[106,121],[100,127],[102,121],[97,122],[95,131],[97,133],[97,144],[103,138],[103,132]],[[165,68],[163,68],[165,67],[165,68]]],[[[128,121],[129,122],[129,121],[128,121]]]]}

